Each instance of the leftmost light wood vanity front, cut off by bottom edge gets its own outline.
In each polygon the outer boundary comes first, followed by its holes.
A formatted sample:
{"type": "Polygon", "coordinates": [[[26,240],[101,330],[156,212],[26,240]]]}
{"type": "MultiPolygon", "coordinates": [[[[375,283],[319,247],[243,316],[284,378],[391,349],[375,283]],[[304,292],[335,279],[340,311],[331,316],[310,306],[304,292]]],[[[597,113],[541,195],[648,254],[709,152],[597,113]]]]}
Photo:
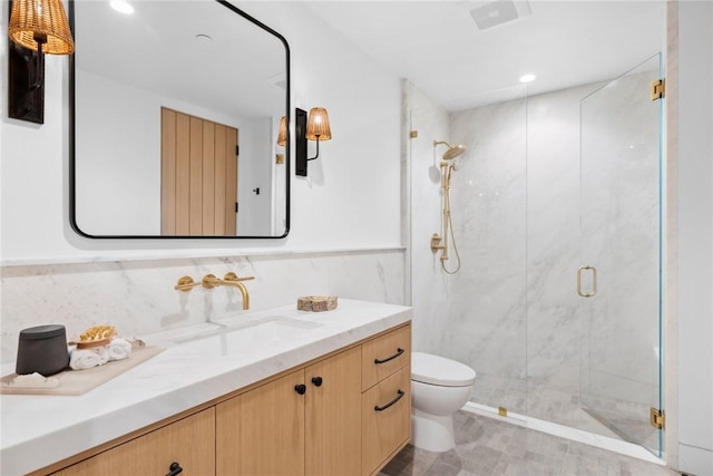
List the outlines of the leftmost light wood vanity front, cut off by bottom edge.
{"type": "Polygon", "coordinates": [[[215,474],[215,410],[208,408],[61,469],[61,476],[156,475],[177,463],[186,475],[215,474]]]}

